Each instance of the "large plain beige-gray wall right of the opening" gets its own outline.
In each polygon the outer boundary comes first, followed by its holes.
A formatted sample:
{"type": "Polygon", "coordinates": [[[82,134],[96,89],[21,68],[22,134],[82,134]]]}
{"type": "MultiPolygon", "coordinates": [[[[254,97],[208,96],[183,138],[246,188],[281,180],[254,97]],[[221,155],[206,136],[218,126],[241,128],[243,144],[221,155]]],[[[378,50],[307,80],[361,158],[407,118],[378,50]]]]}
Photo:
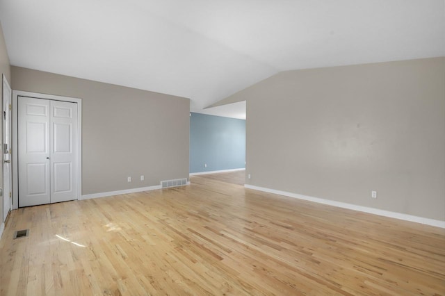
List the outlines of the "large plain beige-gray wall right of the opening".
{"type": "Polygon", "coordinates": [[[228,99],[247,100],[248,184],[445,220],[445,58],[282,72],[228,99]]]}

